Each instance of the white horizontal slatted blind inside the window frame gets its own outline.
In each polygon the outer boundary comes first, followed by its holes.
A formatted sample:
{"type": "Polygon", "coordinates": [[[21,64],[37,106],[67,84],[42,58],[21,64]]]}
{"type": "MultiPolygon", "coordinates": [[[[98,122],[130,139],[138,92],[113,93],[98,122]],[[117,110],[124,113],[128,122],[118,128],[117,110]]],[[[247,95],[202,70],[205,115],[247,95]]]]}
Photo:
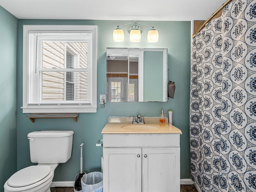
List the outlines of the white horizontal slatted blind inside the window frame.
{"type": "Polygon", "coordinates": [[[92,34],[29,32],[28,106],[92,103],[92,34]]]}

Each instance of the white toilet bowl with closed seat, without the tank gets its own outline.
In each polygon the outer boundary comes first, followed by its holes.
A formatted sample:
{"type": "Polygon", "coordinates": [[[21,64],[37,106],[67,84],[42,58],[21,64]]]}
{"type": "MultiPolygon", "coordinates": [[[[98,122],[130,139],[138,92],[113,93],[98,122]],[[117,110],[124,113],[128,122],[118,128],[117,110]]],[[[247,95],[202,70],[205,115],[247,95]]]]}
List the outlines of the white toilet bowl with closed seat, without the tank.
{"type": "Polygon", "coordinates": [[[50,192],[58,164],[38,164],[19,170],[4,184],[4,192],[50,192]]]}

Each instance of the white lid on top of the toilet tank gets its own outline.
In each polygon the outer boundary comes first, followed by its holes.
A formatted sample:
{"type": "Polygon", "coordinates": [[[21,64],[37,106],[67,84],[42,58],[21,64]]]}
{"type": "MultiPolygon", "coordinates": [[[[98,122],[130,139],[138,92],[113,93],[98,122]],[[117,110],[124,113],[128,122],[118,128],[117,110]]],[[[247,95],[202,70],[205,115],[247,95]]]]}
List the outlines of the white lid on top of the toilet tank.
{"type": "Polygon", "coordinates": [[[74,134],[74,131],[34,131],[28,134],[28,137],[68,137],[74,134]]]}

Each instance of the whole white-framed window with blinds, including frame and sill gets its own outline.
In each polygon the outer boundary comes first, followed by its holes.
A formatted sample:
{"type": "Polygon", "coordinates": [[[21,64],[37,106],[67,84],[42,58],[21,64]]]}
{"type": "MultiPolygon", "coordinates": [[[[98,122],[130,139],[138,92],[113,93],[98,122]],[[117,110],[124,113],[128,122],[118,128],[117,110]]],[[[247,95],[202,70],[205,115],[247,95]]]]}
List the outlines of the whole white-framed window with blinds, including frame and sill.
{"type": "Polygon", "coordinates": [[[97,111],[97,27],[24,26],[23,112],[97,111]]]}

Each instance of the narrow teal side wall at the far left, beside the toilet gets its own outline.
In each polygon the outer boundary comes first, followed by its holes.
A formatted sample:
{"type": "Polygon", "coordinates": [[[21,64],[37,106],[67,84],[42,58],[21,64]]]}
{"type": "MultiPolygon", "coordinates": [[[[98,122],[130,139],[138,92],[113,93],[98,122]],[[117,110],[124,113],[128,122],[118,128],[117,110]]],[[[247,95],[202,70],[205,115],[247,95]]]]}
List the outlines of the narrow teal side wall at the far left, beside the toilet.
{"type": "Polygon", "coordinates": [[[18,19],[0,6],[0,191],[17,170],[17,23],[18,19]]]}

